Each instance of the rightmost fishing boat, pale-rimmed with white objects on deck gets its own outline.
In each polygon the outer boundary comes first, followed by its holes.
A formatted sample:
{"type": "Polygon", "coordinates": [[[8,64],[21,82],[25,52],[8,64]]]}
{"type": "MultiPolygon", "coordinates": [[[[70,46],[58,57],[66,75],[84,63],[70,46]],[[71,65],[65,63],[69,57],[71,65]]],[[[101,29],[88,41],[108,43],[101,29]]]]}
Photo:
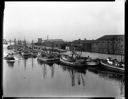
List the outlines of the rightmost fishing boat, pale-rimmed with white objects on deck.
{"type": "Polygon", "coordinates": [[[117,71],[117,72],[124,72],[125,71],[125,65],[116,61],[112,60],[110,58],[106,60],[101,60],[100,64],[103,68],[112,70],[112,71],[117,71]]]}

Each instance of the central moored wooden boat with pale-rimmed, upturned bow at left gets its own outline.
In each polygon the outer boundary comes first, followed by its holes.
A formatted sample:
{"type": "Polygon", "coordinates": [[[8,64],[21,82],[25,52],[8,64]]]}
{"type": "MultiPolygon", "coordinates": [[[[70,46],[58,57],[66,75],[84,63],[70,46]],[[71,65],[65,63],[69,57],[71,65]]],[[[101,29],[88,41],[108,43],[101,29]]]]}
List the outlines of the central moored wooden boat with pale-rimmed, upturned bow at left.
{"type": "Polygon", "coordinates": [[[67,65],[67,66],[72,66],[72,67],[86,67],[84,64],[83,60],[75,60],[72,57],[68,56],[68,55],[62,55],[60,57],[60,63],[67,65]]]}

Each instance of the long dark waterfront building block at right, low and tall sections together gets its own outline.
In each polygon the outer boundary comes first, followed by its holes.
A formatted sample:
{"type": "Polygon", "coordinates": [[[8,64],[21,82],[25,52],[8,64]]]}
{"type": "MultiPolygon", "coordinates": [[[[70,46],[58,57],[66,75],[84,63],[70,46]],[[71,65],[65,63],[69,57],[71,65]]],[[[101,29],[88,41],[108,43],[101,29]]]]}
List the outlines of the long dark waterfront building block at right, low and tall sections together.
{"type": "Polygon", "coordinates": [[[103,54],[124,54],[124,35],[104,35],[96,40],[74,40],[76,50],[103,54]]]}

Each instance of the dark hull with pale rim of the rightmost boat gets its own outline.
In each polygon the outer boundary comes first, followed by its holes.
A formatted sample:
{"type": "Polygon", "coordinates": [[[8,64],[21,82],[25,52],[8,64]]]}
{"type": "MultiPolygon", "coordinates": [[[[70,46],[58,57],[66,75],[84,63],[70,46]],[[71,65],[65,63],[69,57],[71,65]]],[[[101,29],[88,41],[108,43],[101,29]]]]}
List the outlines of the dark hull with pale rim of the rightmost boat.
{"type": "Polygon", "coordinates": [[[111,70],[111,71],[122,72],[122,73],[124,73],[124,71],[125,71],[124,68],[115,67],[115,66],[106,64],[106,63],[103,62],[103,61],[100,61],[100,66],[101,66],[102,68],[105,68],[105,69],[108,69],[108,70],[111,70]]]}

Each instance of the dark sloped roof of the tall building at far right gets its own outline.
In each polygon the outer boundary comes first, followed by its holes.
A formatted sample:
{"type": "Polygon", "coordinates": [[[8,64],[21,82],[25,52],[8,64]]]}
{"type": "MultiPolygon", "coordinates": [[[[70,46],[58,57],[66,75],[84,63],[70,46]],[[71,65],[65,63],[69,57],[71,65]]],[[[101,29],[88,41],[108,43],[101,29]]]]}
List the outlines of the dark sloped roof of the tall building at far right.
{"type": "Polygon", "coordinates": [[[124,35],[104,35],[96,40],[124,39],[124,35]]]}

